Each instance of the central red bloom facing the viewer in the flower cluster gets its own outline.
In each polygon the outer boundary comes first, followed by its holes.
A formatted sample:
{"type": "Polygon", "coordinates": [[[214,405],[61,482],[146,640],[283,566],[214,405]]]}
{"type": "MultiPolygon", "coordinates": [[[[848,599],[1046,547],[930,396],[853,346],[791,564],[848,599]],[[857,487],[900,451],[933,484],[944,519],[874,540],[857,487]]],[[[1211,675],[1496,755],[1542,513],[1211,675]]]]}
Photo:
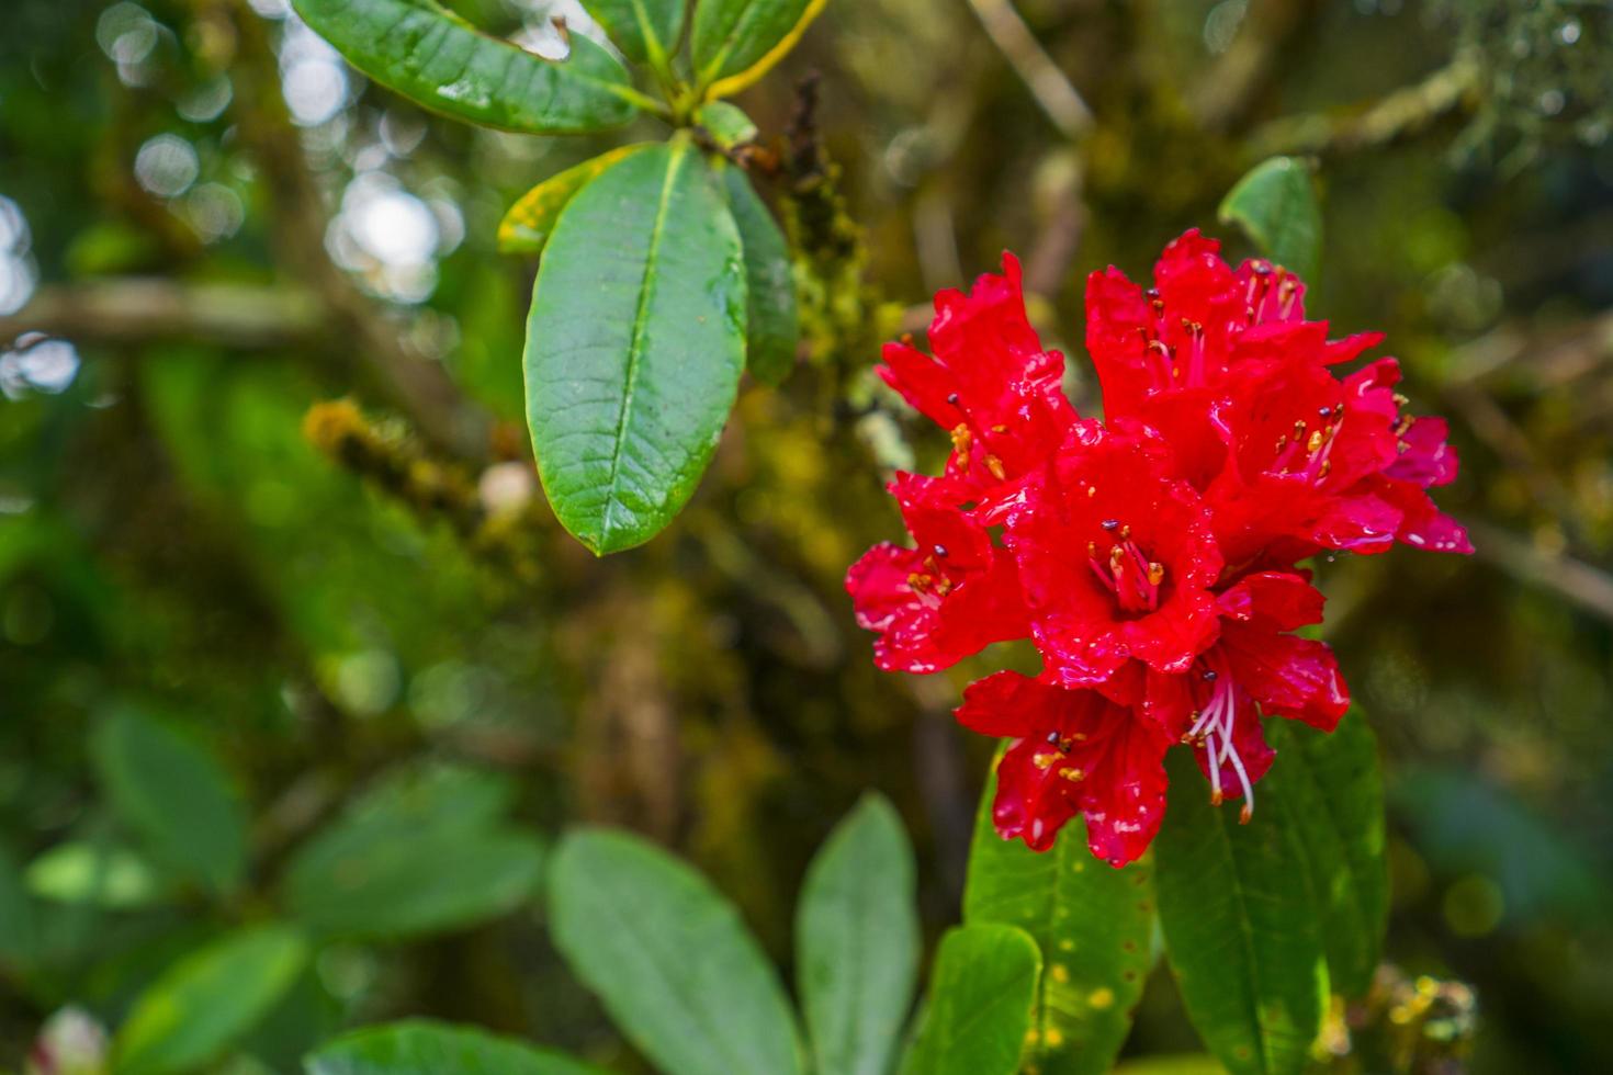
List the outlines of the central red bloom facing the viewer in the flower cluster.
{"type": "Polygon", "coordinates": [[[1008,511],[1031,632],[1065,687],[1103,683],[1129,658],[1182,670],[1215,640],[1221,554],[1166,461],[1145,427],[1077,421],[1008,511]]]}

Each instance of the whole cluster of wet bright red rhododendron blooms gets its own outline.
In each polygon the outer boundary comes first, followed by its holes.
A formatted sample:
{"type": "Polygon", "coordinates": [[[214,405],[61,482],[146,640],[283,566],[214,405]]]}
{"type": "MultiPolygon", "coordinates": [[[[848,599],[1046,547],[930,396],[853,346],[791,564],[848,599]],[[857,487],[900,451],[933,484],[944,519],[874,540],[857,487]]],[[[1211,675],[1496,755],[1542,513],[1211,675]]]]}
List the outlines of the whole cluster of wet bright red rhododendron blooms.
{"type": "Polygon", "coordinates": [[[1274,757],[1261,716],[1332,730],[1350,703],[1332,651],[1294,633],[1323,611],[1297,564],[1395,542],[1471,551],[1426,492],[1457,475],[1445,422],[1402,413],[1392,358],[1336,372],[1382,337],[1329,340],[1295,276],[1218,250],[1187,232],[1147,290],[1092,274],[1103,421],[1065,398],[1011,255],[936,297],[932,355],[892,343],[879,367],[952,454],[945,474],[897,475],[915,545],[869,550],[847,588],[882,669],[1036,643],[1040,675],[973,683],[958,719],[1011,740],[994,817],[1039,851],[1082,814],[1094,854],[1140,856],[1177,743],[1247,819],[1274,757]]]}

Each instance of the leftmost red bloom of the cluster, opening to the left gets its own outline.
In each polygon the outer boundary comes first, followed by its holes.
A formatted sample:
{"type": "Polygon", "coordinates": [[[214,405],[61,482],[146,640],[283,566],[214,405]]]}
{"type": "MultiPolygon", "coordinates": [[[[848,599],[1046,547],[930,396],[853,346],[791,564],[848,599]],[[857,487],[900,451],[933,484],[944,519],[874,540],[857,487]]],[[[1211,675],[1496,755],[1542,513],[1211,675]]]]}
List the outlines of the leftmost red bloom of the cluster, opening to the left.
{"type": "Polygon", "coordinates": [[[916,548],[876,545],[845,575],[858,625],[879,632],[874,662],[887,672],[936,672],[1029,633],[1013,558],[952,493],[944,479],[898,474],[890,495],[916,548]]]}

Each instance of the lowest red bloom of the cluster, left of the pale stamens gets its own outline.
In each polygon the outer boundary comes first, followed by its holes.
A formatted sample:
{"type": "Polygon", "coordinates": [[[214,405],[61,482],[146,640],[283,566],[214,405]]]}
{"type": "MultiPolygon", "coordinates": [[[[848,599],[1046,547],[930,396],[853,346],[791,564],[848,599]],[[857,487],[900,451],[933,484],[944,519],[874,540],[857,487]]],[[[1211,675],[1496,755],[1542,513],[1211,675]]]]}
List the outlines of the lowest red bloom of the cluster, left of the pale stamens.
{"type": "Polygon", "coordinates": [[[1124,865],[1160,832],[1171,740],[1129,706],[998,672],[963,691],[958,720],[1015,740],[997,766],[992,803],[1005,840],[1047,851],[1065,822],[1086,814],[1092,854],[1124,865]]]}

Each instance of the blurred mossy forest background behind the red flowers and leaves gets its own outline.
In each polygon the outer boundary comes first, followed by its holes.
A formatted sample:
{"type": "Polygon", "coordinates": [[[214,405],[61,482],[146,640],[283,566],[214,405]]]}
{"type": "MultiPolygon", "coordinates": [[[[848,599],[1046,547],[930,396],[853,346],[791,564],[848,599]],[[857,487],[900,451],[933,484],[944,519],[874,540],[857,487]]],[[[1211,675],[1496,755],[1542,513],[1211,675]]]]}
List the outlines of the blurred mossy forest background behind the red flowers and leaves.
{"type": "MultiPolygon", "coordinates": [[[[453,6],[537,32],[566,5],[453,6]]],[[[534,266],[494,232],[632,132],[427,116],[282,0],[8,3],[0,340],[48,338],[0,351],[3,843],[26,861],[105,830],[85,732],[137,699],[240,775],[265,891],[352,788],[429,756],[515,774],[545,828],[679,848],[781,961],[806,856],[881,788],[942,928],[989,751],[948,709],[990,662],[881,675],[852,624],[845,566],[900,532],[882,467],[944,446],[873,390],[876,343],[1013,248],[1090,409],[1084,274],[1145,272],[1182,229],[1216,230],[1261,156],[1313,153],[1310,308],[1386,329],[1413,408],[1450,416],[1442,503],[1479,546],[1318,564],[1387,753],[1389,956],[1478,990],[1474,1070],[1613,1070],[1607,5],[1016,8],[837,0],[742,98],[776,137],[821,74],[865,247],[808,272],[832,300],[811,355],[781,392],[742,388],[686,514],[594,561],[536,492],[534,266]],[[356,409],[310,416],[342,396],[356,409]]],[[[115,1022],[200,914],[102,915],[44,980],[8,975],[0,1059],[68,1001],[115,1022]]],[[[624,1062],[534,915],[318,972],[332,1022],[436,1014],[624,1062]]],[[[1190,1048],[1161,977],[1132,1051],[1190,1048]]]]}

